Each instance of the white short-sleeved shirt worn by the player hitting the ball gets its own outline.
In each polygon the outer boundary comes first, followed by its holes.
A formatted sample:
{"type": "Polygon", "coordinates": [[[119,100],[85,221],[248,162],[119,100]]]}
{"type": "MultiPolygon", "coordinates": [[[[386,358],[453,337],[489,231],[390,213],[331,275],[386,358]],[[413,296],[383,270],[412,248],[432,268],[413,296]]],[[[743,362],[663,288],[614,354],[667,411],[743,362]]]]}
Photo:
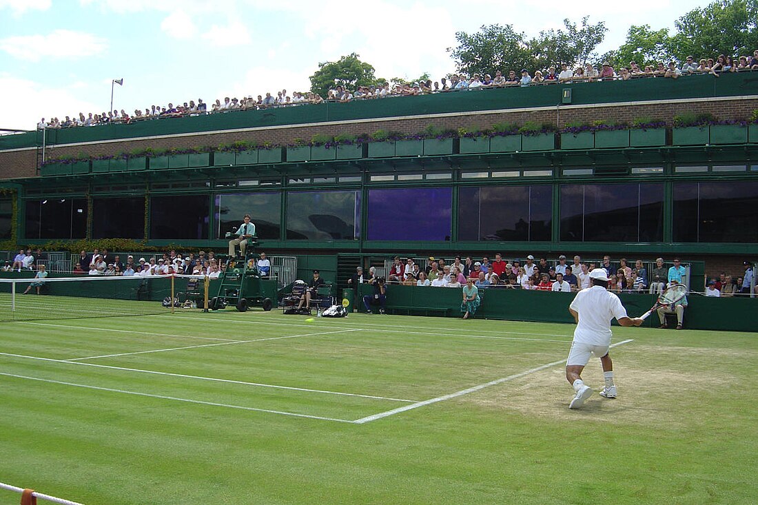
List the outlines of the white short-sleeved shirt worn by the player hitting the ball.
{"type": "Polygon", "coordinates": [[[610,344],[613,318],[628,317],[619,296],[600,286],[588,287],[576,293],[570,307],[579,314],[574,341],[595,346],[610,344]]]}

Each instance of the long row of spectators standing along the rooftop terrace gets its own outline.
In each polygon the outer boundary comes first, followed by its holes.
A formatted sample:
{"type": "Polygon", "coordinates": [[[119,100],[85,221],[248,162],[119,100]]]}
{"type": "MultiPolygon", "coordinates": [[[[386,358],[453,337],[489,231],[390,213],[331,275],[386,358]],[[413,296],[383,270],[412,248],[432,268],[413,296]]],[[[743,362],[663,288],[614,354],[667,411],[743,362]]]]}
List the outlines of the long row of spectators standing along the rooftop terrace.
{"type": "Polygon", "coordinates": [[[640,66],[635,61],[630,61],[628,66],[620,67],[618,70],[613,68],[608,61],[604,61],[599,67],[587,63],[575,68],[569,68],[567,64],[561,64],[558,68],[548,67],[547,69],[534,71],[531,74],[526,68],[520,72],[509,70],[506,73],[496,71],[494,77],[490,74],[449,74],[440,80],[432,81],[420,80],[416,83],[396,83],[390,86],[390,83],[384,83],[377,86],[356,86],[355,89],[346,89],[343,86],[335,86],[329,89],[327,96],[324,98],[318,93],[293,92],[290,96],[287,89],[276,92],[276,96],[266,93],[265,96],[258,95],[253,98],[252,95],[243,96],[241,99],[236,97],[225,97],[215,100],[210,107],[198,99],[197,102],[189,100],[181,104],[174,105],[169,103],[163,105],[150,105],[144,111],[139,108],[134,109],[132,114],[127,113],[123,108],[121,111],[103,111],[100,114],[89,112],[84,114],[80,112],[72,116],[66,116],[63,121],[58,118],[52,118],[45,121],[42,118],[37,124],[37,129],[45,128],[69,128],[69,127],[93,127],[105,124],[130,124],[133,121],[141,121],[156,118],[177,118],[182,116],[197,116],[201,114],[212,114],[218,112],[229,112],[238,110],[257,110],[271,107],[287,107],[302,104],[319,104],[322,102],[351,102],[353,100],[388,98],[394,96],[416,96],[427,95],[431,93],[448,93],[455,91],[467,91],[473,89],[492,89],[508,86],[542,86],[553,83],[572,83],[572,82],[600,82],[608,80],[632,80],[643,77],[658,77],[664,79],[678,79],[679,77],[691,74],[710,74],[713,77],[719,77],[725,72],[741,71],[758,71],[758,49],[753,51],[753,55],[728,56],[719,55],[714,58],[694,58],[688,56],[684,64],[679,66],[675,61],[664,63],[659,61],[655,66],[640,66]]]}

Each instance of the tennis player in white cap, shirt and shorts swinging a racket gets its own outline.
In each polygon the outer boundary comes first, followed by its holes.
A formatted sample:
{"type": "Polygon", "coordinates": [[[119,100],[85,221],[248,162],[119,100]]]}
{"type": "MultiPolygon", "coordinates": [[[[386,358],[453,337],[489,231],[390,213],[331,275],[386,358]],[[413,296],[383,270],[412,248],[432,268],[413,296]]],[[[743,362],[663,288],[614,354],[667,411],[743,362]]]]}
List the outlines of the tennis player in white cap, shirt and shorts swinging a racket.
{"type": "Polygon", "coordinates": [[[566,379],[574,386],[576,395],[568,405],[569,409],[578,409],[592,396],[592,389],[581,380],[581,371],[590,361],[590,355],[600,358],[606,386],[600,391],[605,398],[616,397],[613,384],[613,362],[608,354],[611,343],[611,321],[613,318],[622,326],[639,326],[642,318],[630,318],[619,300],[619,296],[606,289],[608,274],[604,268],[590,271],[590,287],[576,293],[574,301],[568,306],[568,312],[574,316],[576,329],[571,351],[566,361],[566,379]]]}

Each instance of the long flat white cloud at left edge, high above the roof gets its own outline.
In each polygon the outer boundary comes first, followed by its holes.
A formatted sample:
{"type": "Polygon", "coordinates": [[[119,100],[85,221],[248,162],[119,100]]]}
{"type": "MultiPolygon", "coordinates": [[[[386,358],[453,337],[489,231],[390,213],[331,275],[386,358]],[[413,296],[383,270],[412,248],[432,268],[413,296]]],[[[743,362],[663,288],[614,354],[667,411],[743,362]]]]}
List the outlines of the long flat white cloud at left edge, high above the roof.
{"type": "Polygon", "coordinates": [[[29,61],[39,61],[48,56],[53,58],[92,56],[104,52],[107,47],[105,39],[71,30],[55,30],[49,35],[11,36],[0,39],[0,50],[29,61]]]}

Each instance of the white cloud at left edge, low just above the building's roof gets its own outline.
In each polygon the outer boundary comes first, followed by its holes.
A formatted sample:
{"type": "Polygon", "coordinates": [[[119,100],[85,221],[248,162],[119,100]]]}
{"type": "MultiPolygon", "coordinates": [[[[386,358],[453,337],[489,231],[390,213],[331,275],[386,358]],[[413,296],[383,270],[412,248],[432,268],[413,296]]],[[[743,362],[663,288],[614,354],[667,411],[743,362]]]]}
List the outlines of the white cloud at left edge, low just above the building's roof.
{"type": "Polygon", "coordinates": [[[17,79],[8,74],[0,74],[0,96],[12,96],[3,105],[3,127],[20,130],[33,130],[39,118],[57,117],[61,121],[68,115],[85,115],[99,111],[96,105],[77,96],[64,88],[45,87],[32,80],[17,79]]]}

